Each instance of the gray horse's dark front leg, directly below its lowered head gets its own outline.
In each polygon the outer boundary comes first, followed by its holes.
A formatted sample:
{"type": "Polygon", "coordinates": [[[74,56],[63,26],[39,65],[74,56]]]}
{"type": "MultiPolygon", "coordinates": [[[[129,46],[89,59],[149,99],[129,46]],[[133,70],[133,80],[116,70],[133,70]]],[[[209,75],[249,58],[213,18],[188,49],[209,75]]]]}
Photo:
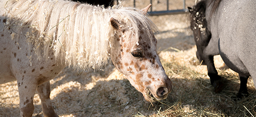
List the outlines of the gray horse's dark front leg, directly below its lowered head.
{"type": "Polygon", "coordinates": [[[211,84],[214,87],[214,92],[220,93],[223,90],[223,83],[221,81],[222,77],[218,75],[218,71],[214,66],[213,56],[205,56],[204,60],[207,66],[208,76],[210,77],[211,84]]]}

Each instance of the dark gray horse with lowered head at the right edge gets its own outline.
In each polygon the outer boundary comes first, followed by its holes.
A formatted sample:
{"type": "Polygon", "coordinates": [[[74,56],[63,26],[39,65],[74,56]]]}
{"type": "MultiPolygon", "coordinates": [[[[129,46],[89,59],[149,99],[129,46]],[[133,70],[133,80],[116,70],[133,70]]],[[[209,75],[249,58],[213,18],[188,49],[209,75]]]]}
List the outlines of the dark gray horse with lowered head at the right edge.
{"type": "Polygon", "coordinates": [[[248,94],[249,76],[256,85],[256,0],[201,0],[189,11],[196,56],[207,65],[215,92],[223,86],[213,63],[213,56],[220,54],[239,73],[237,96],[248,94]]]}

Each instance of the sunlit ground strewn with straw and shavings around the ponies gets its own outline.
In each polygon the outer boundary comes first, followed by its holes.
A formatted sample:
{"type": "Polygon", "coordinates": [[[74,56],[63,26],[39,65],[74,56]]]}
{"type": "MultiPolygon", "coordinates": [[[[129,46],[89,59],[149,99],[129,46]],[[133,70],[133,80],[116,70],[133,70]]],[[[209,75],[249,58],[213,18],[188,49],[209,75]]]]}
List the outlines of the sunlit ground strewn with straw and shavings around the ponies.
{"type": "MultiPolygon", "coordinates": [[[[172,0],[176,1],[176,0],[172,0]]],[[[133,0],[123,2],[132,6],[133,0]]],[[[163,0],[155,1],[163,4],[163,0]]],[[[180,4],[180,2],[177,2],[180,4]]],[[[187,0],[188,6],[193,0],[187,0]]],[[[136,0],[136,7],[146,6],[136,0]]],[[[154,5],[154,4],[153,4],[154,5]]],[[[172,3],[172,6],[178,6],[172,3]]],[[[160,6],[159,6],[160,7],[160,6]]],[[[156,7],[153,7],[153,10],[156,7]]],[[[160,7],[162,8],[162,7],[160,7]]],[[[182,8],[182,7],[181,7],[182,8]]],[[[175,8],[174,8],[175,9],[175,8]]],[[[159,9],[158,9],[159,10],[159,9]]],[[[160,9],[163,10],[163,9],[160,9]]],[[[158,51],[173,90],[167,99],[146,102],[129,81],[108,65],[105,70],[72,71],[65,69],[51,80],[52,105],[61,117],[255,117],[256,92],[248,81],[249,96],[235,98],[239,90],[238,74],[228,69],[220,56],[215,57],[219,74],[224,77],[224,90],[213,92],[206,66],[195,57],[188,14],[150,17],[159,27],[156,33],[158,51]]],[[[34,117],[43,117],[38,94],[34,96],[34,117]]],[[[0,85],[0,117],[19,117],[17,82],[0,85]]]]}

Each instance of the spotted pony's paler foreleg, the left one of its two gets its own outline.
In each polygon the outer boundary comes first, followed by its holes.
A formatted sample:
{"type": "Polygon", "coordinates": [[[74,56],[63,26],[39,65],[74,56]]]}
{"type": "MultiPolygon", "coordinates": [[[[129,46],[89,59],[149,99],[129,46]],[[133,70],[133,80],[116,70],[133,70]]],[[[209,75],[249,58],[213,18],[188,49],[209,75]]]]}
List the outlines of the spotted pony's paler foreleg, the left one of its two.
{"type": "Polygon", "coordinates": [[[33,98],[36,90],[35,82],[25,82],[17,79],[20,95],[21,117],[32,117],[34,112],[33,98]]]}

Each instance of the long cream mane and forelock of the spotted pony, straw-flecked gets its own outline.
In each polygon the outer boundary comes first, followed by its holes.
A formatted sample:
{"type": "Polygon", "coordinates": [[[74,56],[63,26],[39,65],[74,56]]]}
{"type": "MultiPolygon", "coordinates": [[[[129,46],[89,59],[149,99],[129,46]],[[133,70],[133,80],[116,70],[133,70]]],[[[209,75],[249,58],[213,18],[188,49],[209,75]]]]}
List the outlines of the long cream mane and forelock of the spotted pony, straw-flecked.
{"type": "Polygon", "coordinates": [[[122,29],[129,31],[131,42],[138,41],[141,28],[151,38],[156,29],[143,11],[131,7],[103,8],[68,0],[3,2],[5,28],[12,29],[13,39],[26,39],[39,59],[48,58],[53,50],[57,61],[82,69],[97,69],[107,63],[109,42],[116,34],[111,18],[125,23],[122,29]]]}

